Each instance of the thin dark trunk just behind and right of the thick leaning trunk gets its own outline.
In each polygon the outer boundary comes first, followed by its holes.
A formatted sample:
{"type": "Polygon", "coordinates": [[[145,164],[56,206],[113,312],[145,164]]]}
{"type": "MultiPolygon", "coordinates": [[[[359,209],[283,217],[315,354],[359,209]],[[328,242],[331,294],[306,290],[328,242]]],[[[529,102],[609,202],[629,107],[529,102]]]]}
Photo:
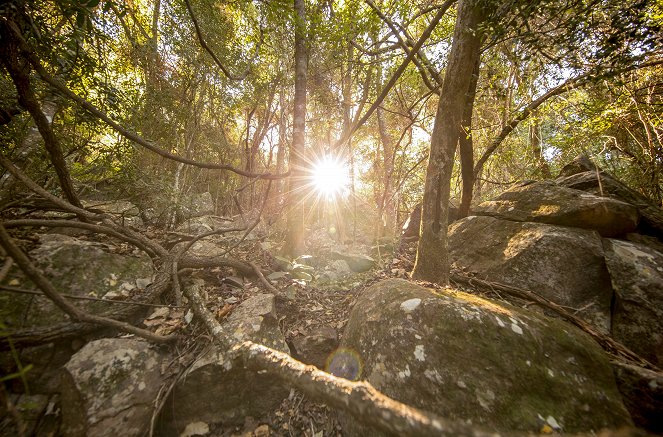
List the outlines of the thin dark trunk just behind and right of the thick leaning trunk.
{"type": "Polygon", "coordinates": [[[479,82],[479,66],[481,57],[477,57],[474,64],[474,72],[470,81],[470,88],[465,100],[463,109],[463,123],[461,125],[458,149],[460,151],[460,173],[463,176],[463,194],[460,207],[458,208],[458,218],[467,217],[470,213],[472,204],[472,194],[474,190],[474,145],[472,144],[472,113],[474,112],[474,96],[477,93],[477,82],[479,82]]]}

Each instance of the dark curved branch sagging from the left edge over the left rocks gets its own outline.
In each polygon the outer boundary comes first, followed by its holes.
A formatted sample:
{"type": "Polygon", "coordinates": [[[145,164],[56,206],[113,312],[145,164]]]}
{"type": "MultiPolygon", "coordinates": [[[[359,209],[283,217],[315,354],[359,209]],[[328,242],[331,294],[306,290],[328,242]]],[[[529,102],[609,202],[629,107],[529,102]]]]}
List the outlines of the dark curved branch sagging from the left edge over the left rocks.
{"type": "Polygon", "coordinates": [[[109,319],[103,316],[97,316],[89,314],[85,311],[80,310],[76,306],[72,305],[67,301],[62,295],[55,289],[51,281],[49,281],[41,271],[35,267],[34,264],[28,259],[28,257],[19,249],[14,241],[7,233],[7,230],[0,222],[0,245],[4,247],[7,251],[7,254],[14,259],[14,262],[23,270],[25,276],[30,278],[32,282],[35,283],[39,289],[62,311],[64,311],[69,317],[74,320],[81,322],[94,323],[101,326],[107,326],[113,329],[119,329],[124,332],[129,332],[131,334],[142,337],[146,340],[153,341],[155,343],[168,343],[175,339],[177,336],[162,336],[154,334],[148,330],[136,328],[129,323],[120,322],[118,320],[109,319]]]}

